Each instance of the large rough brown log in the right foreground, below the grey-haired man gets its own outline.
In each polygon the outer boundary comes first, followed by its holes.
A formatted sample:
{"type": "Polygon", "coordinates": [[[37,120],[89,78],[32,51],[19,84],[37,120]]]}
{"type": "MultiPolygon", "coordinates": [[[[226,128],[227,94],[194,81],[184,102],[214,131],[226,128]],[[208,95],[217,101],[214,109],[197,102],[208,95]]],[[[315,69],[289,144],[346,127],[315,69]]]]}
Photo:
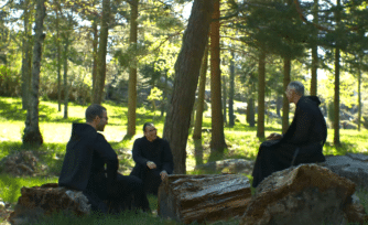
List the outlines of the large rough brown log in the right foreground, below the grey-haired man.
{"type": "Polygon", "coordinates": [[[257,188],[241,225],[311,225],[362,223],[361,204],[353,201],[355,184],[327,168],[301,164],[272,173],[257,188]]]}

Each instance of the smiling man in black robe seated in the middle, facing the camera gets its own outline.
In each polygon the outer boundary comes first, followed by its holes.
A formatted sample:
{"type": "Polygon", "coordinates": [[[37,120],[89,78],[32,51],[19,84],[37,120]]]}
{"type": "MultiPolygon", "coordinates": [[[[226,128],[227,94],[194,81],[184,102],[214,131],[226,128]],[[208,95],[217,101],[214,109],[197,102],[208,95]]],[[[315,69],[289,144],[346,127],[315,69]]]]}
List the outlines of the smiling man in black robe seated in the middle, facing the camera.
{"type": "Polygon", "coordinates": [[[144,137],[133,144],[136,167],[130,175],[142,179],[147,193],[158,195],[159,186],[174,170],[173,156],[166,140],[158,137],[158,130],[151,122],[143,126],[144,137]]]}

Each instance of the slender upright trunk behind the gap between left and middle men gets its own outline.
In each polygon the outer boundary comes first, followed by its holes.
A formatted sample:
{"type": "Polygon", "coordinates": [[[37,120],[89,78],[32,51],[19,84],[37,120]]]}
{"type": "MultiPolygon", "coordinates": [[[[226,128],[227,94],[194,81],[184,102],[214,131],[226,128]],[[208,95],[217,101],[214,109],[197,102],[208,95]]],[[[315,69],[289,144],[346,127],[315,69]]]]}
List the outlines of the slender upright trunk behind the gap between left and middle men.
{"type": "MultiPolygon", "coordinates": [[[[138,19],[138,0],[133,0],[130,3],[130,45],[133,49],[136,55],[137,49],[137,19],[138,19]]],[[[133,137],[136,135],[136,108],[137,108],[137,58],[133,60],[129,68],[129,85],[128,85],[128,127],[127,137],[133,137]]]]}

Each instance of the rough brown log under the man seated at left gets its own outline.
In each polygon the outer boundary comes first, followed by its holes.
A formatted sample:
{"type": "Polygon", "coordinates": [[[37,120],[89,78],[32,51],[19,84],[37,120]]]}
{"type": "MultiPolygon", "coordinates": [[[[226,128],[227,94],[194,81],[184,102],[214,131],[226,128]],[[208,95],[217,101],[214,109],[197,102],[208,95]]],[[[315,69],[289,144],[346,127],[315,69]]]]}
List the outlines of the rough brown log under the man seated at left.
{"type": "Polygon", "coordinates": [[[14,212],[9,217],[12,225],[29,224],[45,214],[59,211],[73,212],[76,215],[90,213],[88,200],[82,192],[59,188],[57,183],[33,188],[23,186],[21,194],[14,212]]]}

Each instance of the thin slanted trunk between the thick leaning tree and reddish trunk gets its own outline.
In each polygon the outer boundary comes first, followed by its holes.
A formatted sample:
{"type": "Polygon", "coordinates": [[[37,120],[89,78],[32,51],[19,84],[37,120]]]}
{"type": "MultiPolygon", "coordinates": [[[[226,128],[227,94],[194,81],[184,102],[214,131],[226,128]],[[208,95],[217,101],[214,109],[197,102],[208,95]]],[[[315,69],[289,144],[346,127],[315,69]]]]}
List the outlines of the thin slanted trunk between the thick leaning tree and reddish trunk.
{"type": "Polygon", "coordinates": [[[196,118],[195,118],[195,125],[194,125],[194,131],[193,131],[194,140],[202,139],[202,121],[203,121],[203,110],[204,110],[204,105],[205,105],[207,65],[208,65],[208,45],[205,49],[205,53],[204,53],[202,65],[201,65],[198,104],[197,104],[197,113],[195,115],[196,118]]]}

